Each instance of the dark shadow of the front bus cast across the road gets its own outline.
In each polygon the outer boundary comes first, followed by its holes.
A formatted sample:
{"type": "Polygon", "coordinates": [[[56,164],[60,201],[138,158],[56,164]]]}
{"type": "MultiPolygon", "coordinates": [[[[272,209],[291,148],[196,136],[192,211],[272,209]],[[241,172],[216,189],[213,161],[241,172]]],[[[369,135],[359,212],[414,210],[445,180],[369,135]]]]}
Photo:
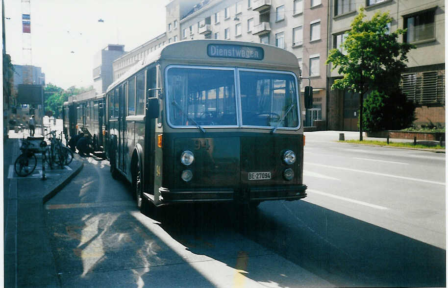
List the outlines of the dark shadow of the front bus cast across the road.
{"type": "MultiPolygon", "coordinates": [[[[265,202],[249,213],[231,206],[174,206],[159,216],[160,225],[193,253],[236,269],[235,257],[224,256],[229,251],[274,252],[339,287],[446,286],[446,250],[305,201],[290,205],[293,216],[285,203],[265,202]]],[[[281,272],[250,267],[246,277],[281,283],[281,272]]],[[[296,284],[286,286],[302,286],[296,284]]]]}

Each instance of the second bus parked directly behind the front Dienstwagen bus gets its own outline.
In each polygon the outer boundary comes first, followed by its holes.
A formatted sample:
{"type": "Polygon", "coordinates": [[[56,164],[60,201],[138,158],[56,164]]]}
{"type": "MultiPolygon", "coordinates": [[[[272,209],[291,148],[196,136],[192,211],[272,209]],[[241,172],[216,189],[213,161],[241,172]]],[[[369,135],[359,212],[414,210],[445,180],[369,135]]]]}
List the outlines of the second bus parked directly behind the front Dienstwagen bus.
{"type": "Polygon", "coordinates": [[[96,94],[90,90],[82,94],[70,96],[62,109],[63,132],[68,140],[83,132],[92,139],[95,151],[104,150],[105,134],[105,94],[96,94]]]}

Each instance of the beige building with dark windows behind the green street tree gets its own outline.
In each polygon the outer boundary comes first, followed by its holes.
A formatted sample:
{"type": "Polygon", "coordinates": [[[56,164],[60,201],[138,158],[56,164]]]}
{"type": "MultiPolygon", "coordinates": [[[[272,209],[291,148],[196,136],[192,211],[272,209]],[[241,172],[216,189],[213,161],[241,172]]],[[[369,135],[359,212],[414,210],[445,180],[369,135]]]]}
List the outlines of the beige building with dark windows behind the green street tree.
{"type": "MultiPolygon", "coordinates": [[[[389,12],[391,31],[406,28],[399,41],[416,46],[408,53],[408,68],[402,74],[402,91],[417,104],[415,123],[445,123],[445,2],[443,0],[330,0],[328,49],[340,48],[359,8],[366,19],[376,12],[389,12]]],[[[330,90],[340,77],[328,65],[328,129],[356,131],[359,95],[330,90]]]]}

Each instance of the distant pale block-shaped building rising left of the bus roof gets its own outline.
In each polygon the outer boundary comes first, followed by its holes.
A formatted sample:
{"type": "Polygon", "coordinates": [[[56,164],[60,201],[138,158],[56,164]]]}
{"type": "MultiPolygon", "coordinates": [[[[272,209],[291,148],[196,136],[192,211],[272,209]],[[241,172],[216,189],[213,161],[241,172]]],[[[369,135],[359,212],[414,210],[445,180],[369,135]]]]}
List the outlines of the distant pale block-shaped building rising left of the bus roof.
{"type": "Polygon", "coordinates": [[[115,59],[120,57],[124,51],[124,45],[109,44],[94,56],[93,88],[98,94],[106,92],[107,87],[113,82],[113,66],[115,59]]]}

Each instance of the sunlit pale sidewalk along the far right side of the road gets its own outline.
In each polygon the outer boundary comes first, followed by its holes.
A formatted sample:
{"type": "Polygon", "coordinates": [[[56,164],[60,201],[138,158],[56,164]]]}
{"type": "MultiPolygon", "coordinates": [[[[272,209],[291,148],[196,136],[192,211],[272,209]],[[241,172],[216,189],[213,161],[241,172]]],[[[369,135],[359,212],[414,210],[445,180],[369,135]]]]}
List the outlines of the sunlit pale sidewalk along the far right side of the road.
{"type": "MultiPolygon", "coordinates": [[[[339,134],[344,134],[344,139],[347,140],[359,140],[359,131],[313,131],[313,132],[304,132],[305,135],[305,144],[307,142],[338,142],[339,134]]],[[[363,141],[382,141],[386,142],[386,138],[376,138],[376,137],[367,137],[365,134],[363,135],[363,141]]],[[[412,139],[397,139],[391,138],[390,142],[409,142],[412,143],[414,140],[412,139]]],[[[417,144],[420,141],[417,141],[417,144]]],[[[371,145],[371,144],[356,144],[356,145],[371,145]]],[[[373,145],[378,146],[378,145],[373,145]]],[[[381,146],[386,148],[396,148],[396,149],[412,149],[412,150],[422,150],[429,151],[435,153],[445,153],[445,149],[425,149],[425,148],[413,148],[413,147],[393,147],[393,146],[381,146]]]]}

